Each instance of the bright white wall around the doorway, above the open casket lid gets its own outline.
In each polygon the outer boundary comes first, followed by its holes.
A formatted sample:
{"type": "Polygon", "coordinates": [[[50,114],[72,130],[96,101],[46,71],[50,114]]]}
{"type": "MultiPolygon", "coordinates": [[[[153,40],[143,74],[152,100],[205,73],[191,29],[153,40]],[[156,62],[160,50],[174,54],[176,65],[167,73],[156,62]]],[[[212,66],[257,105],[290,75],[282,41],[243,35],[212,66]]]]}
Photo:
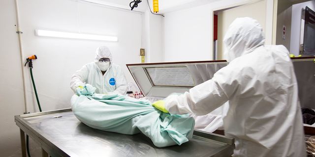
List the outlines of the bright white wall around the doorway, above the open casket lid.
{"type": "MultiPolygon", "coordinates": [[[[217,8],[223,9],[240,2],[252,0],[220,0],[164,14],[163,45],[165,62],[212,60],[213,14],[217,8]]],[[[271,43],[273,0],[266,1],[266,41],[271,43]]]]}

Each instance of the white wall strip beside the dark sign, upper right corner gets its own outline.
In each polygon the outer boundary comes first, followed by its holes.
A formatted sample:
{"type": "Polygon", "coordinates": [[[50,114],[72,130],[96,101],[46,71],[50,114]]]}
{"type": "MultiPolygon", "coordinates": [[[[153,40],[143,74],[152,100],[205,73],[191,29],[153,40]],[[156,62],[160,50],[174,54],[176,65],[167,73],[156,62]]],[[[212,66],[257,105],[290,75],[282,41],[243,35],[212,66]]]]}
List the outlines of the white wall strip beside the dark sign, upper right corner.
{"type": "MultiPolygon", "coordinates": [[[[315,1],[307,1],[292,5],[290,54],[299,55],[302,8],[308,6],[315,11],[315,1]]],[[[304,31],[303,31],[304,32],[304,31]]],[[[303,41],[302,41],[303,42],[303,41]]]]}

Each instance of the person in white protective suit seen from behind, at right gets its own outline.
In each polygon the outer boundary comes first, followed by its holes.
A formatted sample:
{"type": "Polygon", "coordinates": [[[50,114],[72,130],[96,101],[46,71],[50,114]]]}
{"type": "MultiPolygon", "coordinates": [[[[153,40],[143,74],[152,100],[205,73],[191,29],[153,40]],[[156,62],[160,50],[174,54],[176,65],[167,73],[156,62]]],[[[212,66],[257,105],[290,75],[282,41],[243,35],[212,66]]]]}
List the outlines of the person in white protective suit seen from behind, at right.
{"type": "Polygon", "coordinates": [[[306,157],[298,87],[289,52],[264,46],[262,27],[237,18],[223,39],[230,62],[214,77],[153,103],[172,114],[205,115],[228,101],[224,133],[235,138],[233,157],[306,157]]]}

